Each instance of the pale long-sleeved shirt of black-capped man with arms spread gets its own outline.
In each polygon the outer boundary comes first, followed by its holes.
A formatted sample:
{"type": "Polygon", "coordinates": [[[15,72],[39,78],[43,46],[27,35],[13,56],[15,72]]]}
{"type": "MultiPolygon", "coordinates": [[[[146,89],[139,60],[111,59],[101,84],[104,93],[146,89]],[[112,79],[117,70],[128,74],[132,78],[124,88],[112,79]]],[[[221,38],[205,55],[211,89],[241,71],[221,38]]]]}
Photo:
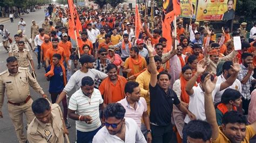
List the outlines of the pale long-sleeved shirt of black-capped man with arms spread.
{"type": "Polygon", "coordinates": [[[107,77],[107,74],[105,74],[102,71],[99,71],[97,69],[88,69],[87,73],[83,73],[82,71],[77,70],[76,73],[74,73],[70,77],[69,82],[66,84],[63,91],[68,93],[69,91],[71,91],[73,89],[73,87],[76,87],[76,90],[78,90],[80,88],[80,86],[82,85],[82,78],[85,76],[90,76],[92,78],[92,80],[95,80],[95,78],[104,80],[107,77]]]}

